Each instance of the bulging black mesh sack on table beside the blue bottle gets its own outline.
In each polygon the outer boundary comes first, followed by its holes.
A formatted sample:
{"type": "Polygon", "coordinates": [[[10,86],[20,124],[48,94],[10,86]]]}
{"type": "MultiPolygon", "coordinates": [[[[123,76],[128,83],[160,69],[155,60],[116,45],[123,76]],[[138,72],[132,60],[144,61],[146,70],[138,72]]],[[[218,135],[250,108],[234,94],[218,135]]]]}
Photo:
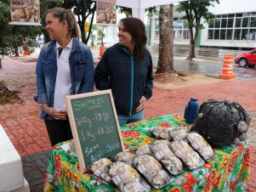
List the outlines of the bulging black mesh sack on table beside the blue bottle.
{"type": "Polygon", "coordinates": [[[221,147],[245,140],[250,121],[240,104],[208,100],[201,104],[191,131],[201,134],[212,147],[221,147]]]}

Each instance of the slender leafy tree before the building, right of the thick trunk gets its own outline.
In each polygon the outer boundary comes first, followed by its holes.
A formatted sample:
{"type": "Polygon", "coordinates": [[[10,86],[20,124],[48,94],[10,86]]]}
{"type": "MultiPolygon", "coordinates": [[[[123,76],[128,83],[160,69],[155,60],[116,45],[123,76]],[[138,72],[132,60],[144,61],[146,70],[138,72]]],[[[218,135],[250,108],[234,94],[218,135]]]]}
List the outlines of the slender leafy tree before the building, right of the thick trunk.
{"type": "Polygon", "coordinates": [[[178,5],[177,11],[185,12],[185,18],[188,20],[189,31],[191,36],[190,55],[188,60],[196,58],[195,46],[198,37],[198,31],[203,28],[201,19],[204,18],[207,22],[213,19],[213,14],[209,12],[208,7],[214,6],[214,3],[219,3],[219,0],[189,0],[181,2],[178,5]],[[193,30],[195,28],[195,30],[193,30]]]}

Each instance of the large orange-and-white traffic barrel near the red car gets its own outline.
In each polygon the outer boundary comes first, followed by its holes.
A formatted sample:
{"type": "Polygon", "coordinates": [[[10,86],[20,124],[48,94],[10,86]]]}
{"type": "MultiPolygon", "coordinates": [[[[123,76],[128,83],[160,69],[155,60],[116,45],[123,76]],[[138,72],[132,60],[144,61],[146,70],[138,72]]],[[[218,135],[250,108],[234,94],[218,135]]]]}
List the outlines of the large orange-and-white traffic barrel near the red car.
{"type": "Polygon", "coordinates": [[[233,54],[225,54],[223,59],[222,74],[219,74],[223,79],[235,79],[233,74],[233,54]]]}

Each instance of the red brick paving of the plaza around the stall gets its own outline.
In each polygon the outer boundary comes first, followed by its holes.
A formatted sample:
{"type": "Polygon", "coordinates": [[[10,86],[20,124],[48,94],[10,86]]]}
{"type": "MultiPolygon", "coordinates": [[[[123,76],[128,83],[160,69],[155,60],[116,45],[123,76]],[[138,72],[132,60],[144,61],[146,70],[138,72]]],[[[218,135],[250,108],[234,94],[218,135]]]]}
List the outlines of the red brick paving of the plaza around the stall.
{"type": "MultiPolygon", "coordinates": [[[[36,94],[35,60],[37,57],[21,59],[4,58],[0,69],[0,81],[4,81],[10,90],[19,90],[22,104],[0,105],[0,124],[9,135],[18,150],[24,169],[24,175],[31,191],[43,191],[43,181],[51,146],[43,121],[39,119],[40,106],[33,101],[36,94]]],[[[256,191],[256,82],[223,80],[185,88],[154,88],[154,95],[146,103],[145,118],[178,113],[183,116],[185,105],[191,97],[202,104],[208,99],[227,99],[236,101],[252,117],[248,130],[251,146],[251,181],[247,182],[247,191],[256,191]]]]}

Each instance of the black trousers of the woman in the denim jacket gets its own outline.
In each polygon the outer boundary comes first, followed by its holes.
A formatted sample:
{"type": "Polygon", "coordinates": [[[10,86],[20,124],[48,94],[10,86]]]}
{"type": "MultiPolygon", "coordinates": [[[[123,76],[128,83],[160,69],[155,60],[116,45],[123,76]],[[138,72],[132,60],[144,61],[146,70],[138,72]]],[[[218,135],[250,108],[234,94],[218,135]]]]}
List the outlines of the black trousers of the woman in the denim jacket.
{"type": "Polygon", "coordinates": [[[52,146],[73,138],[70,121],[44,120],[52,146]]]}

